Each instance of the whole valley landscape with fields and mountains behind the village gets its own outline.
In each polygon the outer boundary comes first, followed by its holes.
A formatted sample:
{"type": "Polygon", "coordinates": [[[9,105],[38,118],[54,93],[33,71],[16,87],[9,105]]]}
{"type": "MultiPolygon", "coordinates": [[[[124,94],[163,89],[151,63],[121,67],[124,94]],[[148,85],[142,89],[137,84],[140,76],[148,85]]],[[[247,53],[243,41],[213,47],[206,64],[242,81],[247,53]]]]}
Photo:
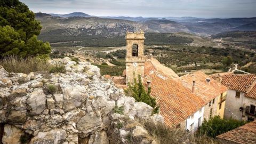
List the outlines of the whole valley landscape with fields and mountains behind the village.
{"type": "Polygon", "coordinates": [[[36,13],[43,26],[39,39],[48,41],[53,58],[70,55],[90,61],[102,75],[119,76],[125,69],[126,31],[145,31],[145,54],[178,75],[197,70],[206,74],[228,71],[230,56],[238,68],[256,73],[255,18],[132,18],[94,17],[83,13],[36,13]],[[244,29],[244,25],[250,25],[244,29]],[[236,30],[236,31],[235,31],[236,30]],[[247,30],[247,31],[241,31],[247,30]],[[254,30],[254,31],[253,31],[254,30]],[[245,66],[252,62],[252,65],[245,66]]]}

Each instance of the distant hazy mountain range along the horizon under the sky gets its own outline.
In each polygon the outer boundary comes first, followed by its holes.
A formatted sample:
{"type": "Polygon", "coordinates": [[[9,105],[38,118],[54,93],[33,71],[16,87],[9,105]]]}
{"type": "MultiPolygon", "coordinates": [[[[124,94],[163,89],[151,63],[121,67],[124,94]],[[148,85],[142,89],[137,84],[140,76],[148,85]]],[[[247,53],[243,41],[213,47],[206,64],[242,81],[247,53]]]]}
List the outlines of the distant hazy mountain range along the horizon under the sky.
{"type": "Polygon", "coordinates": [[[36,19],[42,23],[41,35],[46,38],[43,39],[46,41],[52,41],[52,39],[47,39],[49,35],[56,37],[87,35],[95,36],[95,38],[124,36],[127,30],[144,30],[146,33],[186,32],[199,36],[210,36],[234,30],[256,31],[256,18],[95,17],[82,12],[74,12],[69,14],[36,13],[36,19]]]}

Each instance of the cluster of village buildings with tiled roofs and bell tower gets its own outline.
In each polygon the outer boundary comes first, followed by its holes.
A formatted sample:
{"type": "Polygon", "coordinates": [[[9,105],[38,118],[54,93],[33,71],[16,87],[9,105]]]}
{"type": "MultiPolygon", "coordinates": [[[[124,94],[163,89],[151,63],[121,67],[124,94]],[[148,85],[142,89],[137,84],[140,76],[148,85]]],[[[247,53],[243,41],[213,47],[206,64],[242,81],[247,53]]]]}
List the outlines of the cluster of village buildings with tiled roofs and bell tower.
{"type": "MultiPolygon", "coordinates": [[[[249,122],[255,120],[255,74],[229,72],[206,75],[197,71],[178,76],[172,69],[143,54],[143,31],[127,32],[125,39],[126,69],[123,75],[105,77],[112,79],[117,87],[126,89],[140,75],[145,89],[150,87],[151,97],[157,100],[166,125],[195,132],[204,121],[213,116],[249,122]]],[[[256,123],[249,125],[255,127],[256,123]]],[[[256,134],[255,130],[244,133],[256,134]]],[[[234,141],[223,135],[218,138],[234,141]]],[[[243,139],[246,137],[241,138],[243,139]]]]}

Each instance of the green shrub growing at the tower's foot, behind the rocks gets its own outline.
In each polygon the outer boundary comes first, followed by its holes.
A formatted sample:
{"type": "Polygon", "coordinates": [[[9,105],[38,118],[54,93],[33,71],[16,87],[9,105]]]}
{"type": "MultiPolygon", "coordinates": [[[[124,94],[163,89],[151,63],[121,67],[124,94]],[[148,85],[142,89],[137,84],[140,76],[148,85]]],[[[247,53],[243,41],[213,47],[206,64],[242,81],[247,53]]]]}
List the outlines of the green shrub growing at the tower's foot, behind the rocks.
{"type": "Polygon", "coordinates": [[[154,114],[159,113],[159,106],[156,106],[156,99],[150,96],[151,88],[148,87],[148,90],[145,90],[140,75],[138,75],[138,81],[139,82],[137,82],[137,78],[134,78],[134,84],[129,84],[128,88],[125,90],[125,94],[133,97],[136,101],[147,103],[149,106],[153,107],[154,114]]]}

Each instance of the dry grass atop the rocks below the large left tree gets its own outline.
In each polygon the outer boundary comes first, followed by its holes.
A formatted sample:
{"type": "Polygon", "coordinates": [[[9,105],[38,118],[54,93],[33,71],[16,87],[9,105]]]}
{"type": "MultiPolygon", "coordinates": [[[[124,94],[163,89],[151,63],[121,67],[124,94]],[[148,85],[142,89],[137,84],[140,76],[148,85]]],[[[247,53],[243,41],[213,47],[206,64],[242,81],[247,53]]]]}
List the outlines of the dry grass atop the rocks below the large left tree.
{"type": "Polygon", "coordinates": [[[4,67],[9,73],[24,73],[36,71],[49,71],[50,64],[46,60],[39,58],[20,58],[15,56],[6,57],[0,60],[0,65],[4,67]]]}

